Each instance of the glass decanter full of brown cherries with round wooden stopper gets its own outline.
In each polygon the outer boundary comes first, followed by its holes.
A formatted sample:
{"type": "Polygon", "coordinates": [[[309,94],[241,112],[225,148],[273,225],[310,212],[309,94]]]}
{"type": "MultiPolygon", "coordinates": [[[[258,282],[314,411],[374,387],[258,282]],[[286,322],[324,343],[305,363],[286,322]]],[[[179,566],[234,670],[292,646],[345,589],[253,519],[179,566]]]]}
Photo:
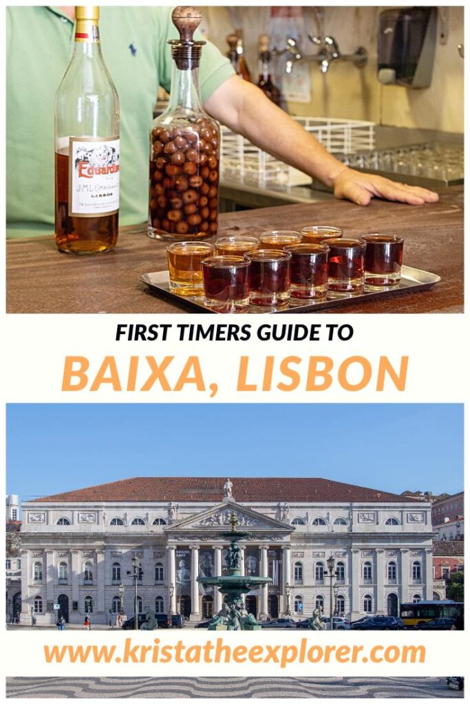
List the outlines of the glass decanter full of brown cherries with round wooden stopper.
{"type": "Polygon", "coordinates": [[[172,39],[173,74],[168,108],[150,132],[149,237],[202,239],[217,232],[220,130],[199,94],[202,46],[193,34],[202,15],[177,7],[172,39]]]}

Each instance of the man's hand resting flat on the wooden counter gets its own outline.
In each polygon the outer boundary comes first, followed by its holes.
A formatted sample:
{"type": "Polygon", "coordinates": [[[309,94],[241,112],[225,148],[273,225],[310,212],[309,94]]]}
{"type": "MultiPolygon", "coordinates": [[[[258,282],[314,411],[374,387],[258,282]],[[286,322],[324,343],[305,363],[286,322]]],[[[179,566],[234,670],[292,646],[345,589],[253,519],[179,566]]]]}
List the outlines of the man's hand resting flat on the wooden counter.
{"type": "Polygon", "coordinates": [[[422,206],[423,203],[435,203],[439,200],[437,193],[426,188],[407,186],[383,176],[363,174],[347,167],[333,179],[333,193],[336,198],[350,200],[358,206],[368,206],[374,196],[388,201],[408,203],[411,206],[422,206]]]}

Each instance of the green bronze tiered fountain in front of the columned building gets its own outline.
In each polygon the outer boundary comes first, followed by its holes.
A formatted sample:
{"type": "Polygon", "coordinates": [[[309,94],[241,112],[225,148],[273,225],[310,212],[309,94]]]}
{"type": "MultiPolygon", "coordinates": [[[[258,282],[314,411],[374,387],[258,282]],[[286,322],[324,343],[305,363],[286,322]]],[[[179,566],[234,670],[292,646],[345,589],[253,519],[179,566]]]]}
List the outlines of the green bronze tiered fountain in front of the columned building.
{"type": "Polygon", "coordinates": [[[272,580],[271,577],[246,577],[242,574],[242,551],[238,542],[247,539],[250,533],[238,531],[237,523],[237,516],[232,513],[232,529],[220,534],[222,538],[230,541],[225,558],[227,574],[218,577],[197,577],[199,584],[218,587],[218,591],[225,597],[221,610],[209,624],[209,631],[254,631],[261,628],[255,617],[245,609],[242,595],[248,594],[256,586],[271,584],[272,580]]]}

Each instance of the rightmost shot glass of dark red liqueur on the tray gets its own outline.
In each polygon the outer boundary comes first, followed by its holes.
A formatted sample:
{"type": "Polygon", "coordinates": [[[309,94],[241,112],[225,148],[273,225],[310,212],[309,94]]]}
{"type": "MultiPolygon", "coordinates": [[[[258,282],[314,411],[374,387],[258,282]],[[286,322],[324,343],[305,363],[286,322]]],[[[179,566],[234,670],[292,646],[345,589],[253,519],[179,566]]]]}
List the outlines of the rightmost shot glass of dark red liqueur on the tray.
{"type": "Polygon", "coordinates": [[[364,283],[395,286],[402,277],[403,237],[397,234],[363,234],[366,243],[364,283]]]}

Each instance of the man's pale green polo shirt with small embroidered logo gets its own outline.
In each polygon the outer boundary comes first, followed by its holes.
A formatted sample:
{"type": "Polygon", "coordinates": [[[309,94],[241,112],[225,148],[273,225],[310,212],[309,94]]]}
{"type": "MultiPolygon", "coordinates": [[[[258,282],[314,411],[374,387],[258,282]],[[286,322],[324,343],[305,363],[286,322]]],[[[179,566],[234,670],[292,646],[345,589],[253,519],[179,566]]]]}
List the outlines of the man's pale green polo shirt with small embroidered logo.
{"type": "MultiPolygon", "coordinates": [[[[149,129],[159,85],[171,82],[171,7],[100,8],[101,48],[120,100],[120,224],[147,220],[149,129]]],[[[54,231],[54,101],[75,23],[59,8],[7,7],[7,237],[54,231]]],[[[202,50],[203,102],[233,75],[213,44],[202,50]]]]}

